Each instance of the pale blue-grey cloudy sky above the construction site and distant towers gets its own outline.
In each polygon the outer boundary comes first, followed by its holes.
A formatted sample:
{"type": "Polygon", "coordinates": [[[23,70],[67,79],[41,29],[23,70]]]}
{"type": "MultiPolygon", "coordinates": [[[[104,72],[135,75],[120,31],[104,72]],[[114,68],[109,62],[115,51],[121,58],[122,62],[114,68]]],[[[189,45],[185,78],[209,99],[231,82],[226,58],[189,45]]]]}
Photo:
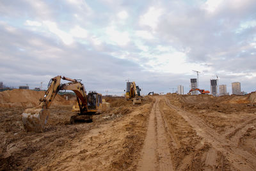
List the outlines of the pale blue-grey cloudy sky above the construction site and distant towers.
{"type": "Polygon", "coordinates": [[[86,90],[168,93],[200,71],[199,87],[256,90],[255,0],[1,0],[0,81],[47,87],[56,75],[86,90]]]}

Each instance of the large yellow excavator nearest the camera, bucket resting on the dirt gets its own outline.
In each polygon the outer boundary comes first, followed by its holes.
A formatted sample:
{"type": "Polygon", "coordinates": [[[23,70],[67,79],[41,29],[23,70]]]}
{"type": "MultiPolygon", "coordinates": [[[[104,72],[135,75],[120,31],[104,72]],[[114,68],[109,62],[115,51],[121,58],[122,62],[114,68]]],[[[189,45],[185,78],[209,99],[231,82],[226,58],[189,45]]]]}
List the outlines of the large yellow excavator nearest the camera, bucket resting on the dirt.
{"type": "Polygon", "coordinates": [[[100,110],[102,105],[102,94],[95,91],[86,95],[86,90],[81,80],[76,80],[68,77],[61,77],[60,75],[51,78],[48,89],[45,92],[44,98],[40,98],[38,108],[27,108],[22,113],[22,123],[24,128],[28,131],[42,132],[45,124],[49,118],[49,107],[54,100],[58,91],[70,90],[74,91],[77,96],[76,103],[79,106],[79,113],[72,115],[70,123],[74,124],[76,121],[92,122],[92,115],[102,112],[100,110]],[[67,80],[68,83],[61,84],[61,79],[67,80]]]}

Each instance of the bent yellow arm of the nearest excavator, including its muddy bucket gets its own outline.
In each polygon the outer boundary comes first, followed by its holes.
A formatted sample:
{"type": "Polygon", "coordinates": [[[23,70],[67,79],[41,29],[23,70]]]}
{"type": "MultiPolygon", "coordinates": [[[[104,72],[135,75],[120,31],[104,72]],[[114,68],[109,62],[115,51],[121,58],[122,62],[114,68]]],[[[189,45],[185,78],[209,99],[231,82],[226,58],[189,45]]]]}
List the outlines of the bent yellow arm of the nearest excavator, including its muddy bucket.
{"type": "Polygon", "coordinates": [[[80,111],[87,112],[88,107],[84,85],[81,82],[77,82],[75,79],[57,76],[51,78],[49,88],[45,92],[44,98],[40,99],[39,108],[27,108],[22,113],[22,123],[26,130],[36,132],[42,132],[44,130],[44,126],[50,115],[49,107],[60,90],[74,91],[77,96],[77,101],[81,101],[81,103],[79,103],[80,111]],[[60,84],[61,78],[70,82],[60,84]]]}

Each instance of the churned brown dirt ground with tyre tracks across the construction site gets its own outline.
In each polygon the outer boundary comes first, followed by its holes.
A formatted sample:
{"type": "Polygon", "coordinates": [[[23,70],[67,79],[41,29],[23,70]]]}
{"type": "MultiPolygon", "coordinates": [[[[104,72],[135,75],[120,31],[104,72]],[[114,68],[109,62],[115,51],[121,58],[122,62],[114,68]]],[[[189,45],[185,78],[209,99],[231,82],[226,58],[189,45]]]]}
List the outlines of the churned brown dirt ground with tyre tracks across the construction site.
{"type": "Polygon", "coordinates": [[[252,97],[106,98],[110,110],[93,123],[69,124],[72,103],[60,96],[44,133],[33,133],[20,120],[33,101],[0,93],[0,170],[255,170],[252,97]]]}

